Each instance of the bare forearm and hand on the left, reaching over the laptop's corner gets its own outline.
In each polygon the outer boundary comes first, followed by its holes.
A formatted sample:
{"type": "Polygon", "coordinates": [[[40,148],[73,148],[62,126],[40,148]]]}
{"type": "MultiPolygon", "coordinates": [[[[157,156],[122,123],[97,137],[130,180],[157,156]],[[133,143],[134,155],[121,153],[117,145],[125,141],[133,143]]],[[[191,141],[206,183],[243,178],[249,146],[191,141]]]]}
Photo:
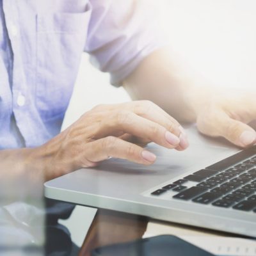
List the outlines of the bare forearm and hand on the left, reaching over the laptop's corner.
{"type": "Polygon", "coordinates": [[[1,185],[36,191],[45,180],[97,166],[108,157],[152,164],[156,156],[143,145],[154,141],[184,150],[188,142],[182,134],[180,124],[152,102],[100,105],[40,147],[1,150],[1,185]]]}

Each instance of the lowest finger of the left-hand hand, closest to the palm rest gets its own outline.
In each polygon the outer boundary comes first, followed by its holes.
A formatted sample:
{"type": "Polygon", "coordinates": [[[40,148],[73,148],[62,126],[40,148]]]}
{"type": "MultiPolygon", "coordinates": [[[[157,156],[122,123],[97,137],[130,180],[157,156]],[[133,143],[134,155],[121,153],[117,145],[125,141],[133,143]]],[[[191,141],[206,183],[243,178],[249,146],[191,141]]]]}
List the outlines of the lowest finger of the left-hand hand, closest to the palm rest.
{"type": "Polygon", "coordinates": [[[84,154],[91,162],[103,161],[109,157],[127,159],[140,164],[152,164],[156,160],[156,156],[151,152],[113,136],[88,143],[84,154]]]}

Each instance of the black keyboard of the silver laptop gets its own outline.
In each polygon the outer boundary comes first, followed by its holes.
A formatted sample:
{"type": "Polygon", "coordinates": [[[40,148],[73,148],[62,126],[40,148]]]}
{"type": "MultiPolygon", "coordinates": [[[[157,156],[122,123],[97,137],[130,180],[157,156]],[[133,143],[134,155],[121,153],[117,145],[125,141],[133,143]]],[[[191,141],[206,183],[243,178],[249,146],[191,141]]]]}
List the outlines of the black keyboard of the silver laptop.
{"type": "Polygon", "coordinates": [[[152,192],[175,191],[173,198],[256,213],[256,146],[198,170],[152,192]],[[186,186],[193,182],[193,186],[186,186]]]}

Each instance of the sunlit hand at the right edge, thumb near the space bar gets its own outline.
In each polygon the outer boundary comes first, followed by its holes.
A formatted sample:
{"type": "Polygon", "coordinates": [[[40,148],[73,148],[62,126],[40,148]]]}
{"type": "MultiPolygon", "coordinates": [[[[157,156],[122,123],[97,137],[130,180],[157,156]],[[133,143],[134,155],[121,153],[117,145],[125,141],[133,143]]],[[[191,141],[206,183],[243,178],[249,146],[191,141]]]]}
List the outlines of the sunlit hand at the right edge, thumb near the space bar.
{"type": "Polygon", "coordinates": [[[205,135],[226,138],[239,147],[256,143],[256,132],[248,124],[256,120],[256,95],[216,95],[197,110],[197,127],[205,135]]]}

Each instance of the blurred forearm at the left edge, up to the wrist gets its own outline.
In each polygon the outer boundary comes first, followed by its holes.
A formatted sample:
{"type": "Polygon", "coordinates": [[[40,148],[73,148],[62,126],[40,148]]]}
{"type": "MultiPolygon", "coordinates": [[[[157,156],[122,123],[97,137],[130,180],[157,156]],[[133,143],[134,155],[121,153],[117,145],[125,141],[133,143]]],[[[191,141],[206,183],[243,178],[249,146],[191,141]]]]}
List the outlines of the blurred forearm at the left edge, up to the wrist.
{"type": "Polygon", "coordinates": [[[42,163],[36,148],[0,150],[0,204],[40,201],[45,180],[42,163]]]}

